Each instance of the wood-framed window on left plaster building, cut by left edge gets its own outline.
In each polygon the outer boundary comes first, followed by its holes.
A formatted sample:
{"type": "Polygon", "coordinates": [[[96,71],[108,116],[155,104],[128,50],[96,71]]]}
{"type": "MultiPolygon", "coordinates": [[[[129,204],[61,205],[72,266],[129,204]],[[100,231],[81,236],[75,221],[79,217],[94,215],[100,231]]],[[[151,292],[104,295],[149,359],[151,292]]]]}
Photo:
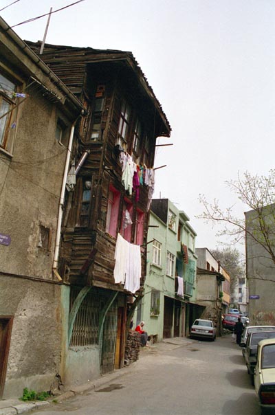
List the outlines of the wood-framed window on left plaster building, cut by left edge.
{"type": "Polygon", "coordinates": [[[8,130],[12,122],[16,85],[0,74],[0,147],[6,148],[8,130]]]}

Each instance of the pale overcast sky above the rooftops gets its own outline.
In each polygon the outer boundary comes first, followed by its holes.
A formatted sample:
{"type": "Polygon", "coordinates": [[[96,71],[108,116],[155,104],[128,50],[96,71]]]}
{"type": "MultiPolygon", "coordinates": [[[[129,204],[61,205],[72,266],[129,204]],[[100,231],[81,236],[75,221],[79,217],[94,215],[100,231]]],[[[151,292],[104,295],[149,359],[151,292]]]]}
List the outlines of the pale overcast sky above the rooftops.
{"type": "MultiPolygon", "coordinates": [[[[1,0],[0,8],[13,0],[1,0]]],[[[10,25],[74,0],[20,0],[0,12],[10,25]]],[[[43,39],[47,17],[14,27],[43,39]]],[[[160,138],[154,197],[190,217],[197,247],[218,247],[199,194],[236,202],[225,181],[267,175],[275,151],[274,0],[84,0],[52,14],[47,43],[131,51],[172,127],[160,138]]],[[[236,205],[240,217],[247,207],[236,205]]]]}

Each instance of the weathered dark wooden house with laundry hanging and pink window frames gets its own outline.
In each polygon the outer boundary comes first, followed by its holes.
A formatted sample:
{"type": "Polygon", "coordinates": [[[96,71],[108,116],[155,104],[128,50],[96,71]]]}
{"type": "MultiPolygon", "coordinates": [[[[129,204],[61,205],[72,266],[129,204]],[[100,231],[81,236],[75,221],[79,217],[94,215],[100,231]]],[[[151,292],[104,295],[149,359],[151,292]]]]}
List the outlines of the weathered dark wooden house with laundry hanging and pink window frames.
{"type": "MultiPolygon", "coordinates": [[[[28,45],[39,52],[40,43],[28,45]]],[[[87,110],[54,266],[70,287],[63,379],[78,383],[123,366],[127,317],[146,275],[155,144],[170,125],[131,52],[45,45],[41,58],[87,110]]]]}

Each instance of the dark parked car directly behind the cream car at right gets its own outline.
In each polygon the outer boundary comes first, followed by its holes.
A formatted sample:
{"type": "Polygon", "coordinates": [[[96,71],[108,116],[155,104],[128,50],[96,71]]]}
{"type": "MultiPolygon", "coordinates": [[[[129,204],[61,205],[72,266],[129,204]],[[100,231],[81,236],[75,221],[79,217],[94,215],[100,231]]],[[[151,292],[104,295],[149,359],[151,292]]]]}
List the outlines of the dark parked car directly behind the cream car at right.
{"type": "Polygon", "coordinates": [[[252,385],[254,382],[254,369],[257,361],[258,343],[263,339],[272,338],[275,339],[275,330],[254,331],[248,335],[245,346],[245,364],[248,368],[248,374],[250,374],[252,385]]]}

